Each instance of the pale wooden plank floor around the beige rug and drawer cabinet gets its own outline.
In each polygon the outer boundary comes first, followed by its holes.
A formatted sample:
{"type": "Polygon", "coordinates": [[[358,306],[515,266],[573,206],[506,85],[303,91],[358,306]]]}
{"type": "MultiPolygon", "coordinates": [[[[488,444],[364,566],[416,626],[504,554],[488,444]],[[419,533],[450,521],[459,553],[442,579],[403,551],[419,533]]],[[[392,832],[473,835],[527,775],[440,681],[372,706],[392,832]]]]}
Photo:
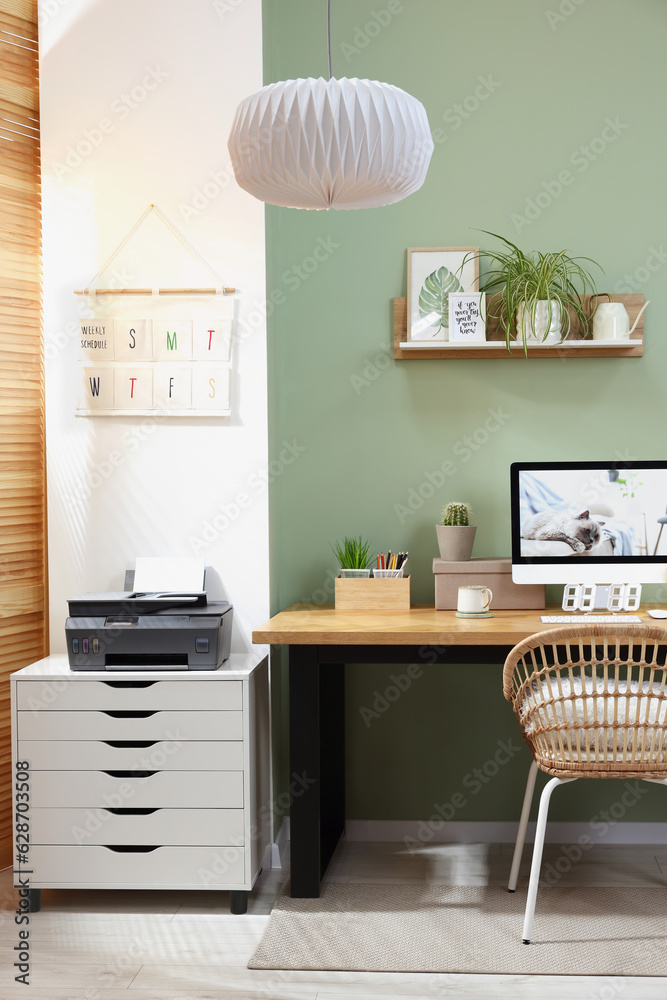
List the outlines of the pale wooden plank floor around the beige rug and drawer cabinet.
{"type": "MultiPolygon", "coordinates": [[[[417,854],[398,844],[342,844],[329,877],[337,881],[427,879],[459,885],[503,885],[506,844],[440,844],[417,854]]],[[[526,852],[528,855],[530,851],[526,852]]],[[[527,864],[519,882],[525,892],[527,864]]],[[[566,869],[557,845],[545,865],[566,869]]],[[[14,982],[17,896],[0,872],[2,1000],[665,1000],[667,977],[612,980],[589,976],[475,976],[359,972],[258,972],[246,968],[259,942],[284,871],[267,871],[248,913],[232,916],[224,892],[49,890],[30,924],[30,987],[14,982]]],[[[633,886],[667,882],[667,846],[595,847],[561,885],[633,886]]],[[[539,914],[539,897],[538,897],[539,914]]],[[[601,914],[601,919],[604,915],[601,914]]],[[[597,930],[601,930],[600,923],[597,930]]],[[[667,923],[666,923],[667,930],[667,923]]],[[[517,934],[520,928],[517,927],[517,934]]]]}

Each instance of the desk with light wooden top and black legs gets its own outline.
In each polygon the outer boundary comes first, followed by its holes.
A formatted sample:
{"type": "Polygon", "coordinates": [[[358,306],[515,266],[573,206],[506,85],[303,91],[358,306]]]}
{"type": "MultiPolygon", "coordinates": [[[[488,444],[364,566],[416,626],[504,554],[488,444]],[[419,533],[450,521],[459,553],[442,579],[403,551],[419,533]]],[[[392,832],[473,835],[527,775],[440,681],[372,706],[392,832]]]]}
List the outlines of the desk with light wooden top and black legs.
{"type": "MultiPolygon", "coordinates": [[[[658,606],[642,605],[642,612],[658,606]]],[[[319,896],[345,828],[345,664],[502,664],[522,639],[556,627],[543,624],[542,614],[563,612],[495,611],[493,618],[469,619],[427,605],[336,611],[293,604],[253,632],[253,642],[289,647],[292,896],[319,896]]]]}

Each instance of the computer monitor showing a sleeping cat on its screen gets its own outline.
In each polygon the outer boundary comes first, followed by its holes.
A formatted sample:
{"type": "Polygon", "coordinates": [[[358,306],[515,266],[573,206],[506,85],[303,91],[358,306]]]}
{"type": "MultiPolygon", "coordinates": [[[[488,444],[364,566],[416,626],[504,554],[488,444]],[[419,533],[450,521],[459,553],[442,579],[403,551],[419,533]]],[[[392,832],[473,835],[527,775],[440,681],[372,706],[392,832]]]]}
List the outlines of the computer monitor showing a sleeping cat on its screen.
{"type": "Polygon", "coordinates": [[[516,462],[515,583],[667,583],[667,462],[516,462]]]}

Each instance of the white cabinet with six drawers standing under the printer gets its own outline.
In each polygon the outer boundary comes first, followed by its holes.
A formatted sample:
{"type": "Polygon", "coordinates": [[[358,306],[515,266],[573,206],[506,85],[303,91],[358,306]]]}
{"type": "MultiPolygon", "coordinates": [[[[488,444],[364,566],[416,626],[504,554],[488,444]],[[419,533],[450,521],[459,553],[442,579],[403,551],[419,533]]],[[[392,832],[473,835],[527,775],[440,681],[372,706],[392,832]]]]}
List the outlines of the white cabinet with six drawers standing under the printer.
{"type": "Polygon", "coordinates": [[[229,889],[244,911],[270,845],[266,659],[109,677],[56,655],[11,694],[33,908],[42,888],[162,887],[229,889]]]}

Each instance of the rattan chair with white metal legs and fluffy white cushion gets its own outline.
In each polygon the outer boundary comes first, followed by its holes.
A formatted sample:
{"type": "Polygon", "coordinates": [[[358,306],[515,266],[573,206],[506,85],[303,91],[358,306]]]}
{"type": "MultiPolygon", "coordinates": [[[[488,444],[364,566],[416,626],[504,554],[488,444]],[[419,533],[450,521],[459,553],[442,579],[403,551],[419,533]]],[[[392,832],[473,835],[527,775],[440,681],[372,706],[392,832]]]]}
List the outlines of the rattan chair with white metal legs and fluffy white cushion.
{"type": "Polygon", "coordinates": [[[542,791],[523,942],[529,944],[549,800],[577,778],[643,778],[667,785],[667,630],[570,625],[538,632],[505,661],[503,692],[533,756],[514,848],[516,889],[537,769],[542,791]]]}

